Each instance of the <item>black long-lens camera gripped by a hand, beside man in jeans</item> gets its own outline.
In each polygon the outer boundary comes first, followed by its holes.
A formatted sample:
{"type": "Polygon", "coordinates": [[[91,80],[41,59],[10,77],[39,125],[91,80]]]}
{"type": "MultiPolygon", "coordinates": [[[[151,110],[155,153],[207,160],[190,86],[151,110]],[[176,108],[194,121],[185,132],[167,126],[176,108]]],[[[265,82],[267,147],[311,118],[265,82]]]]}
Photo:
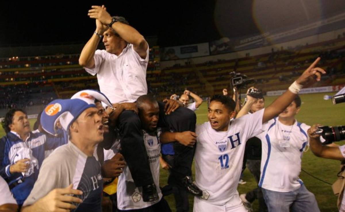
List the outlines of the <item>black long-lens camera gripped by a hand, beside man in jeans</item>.
{"type": "Polygon", "coordinates": [[[318,127],[315,134],[321,135],[325,139],[325,141],[321,141],[323,145],[341,141],[345,139],[345,125],[339,127],[321,126],[318,127]]]}

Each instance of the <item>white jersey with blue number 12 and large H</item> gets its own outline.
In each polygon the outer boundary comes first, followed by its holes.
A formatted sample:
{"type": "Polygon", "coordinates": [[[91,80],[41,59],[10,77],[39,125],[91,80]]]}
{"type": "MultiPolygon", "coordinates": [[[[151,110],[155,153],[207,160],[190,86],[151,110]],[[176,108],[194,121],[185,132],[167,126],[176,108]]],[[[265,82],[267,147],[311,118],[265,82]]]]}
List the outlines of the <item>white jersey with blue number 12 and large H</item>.
{"type": "Polygon", "coordinates": [[[197,125],[195,175],[204,195],[200,199],[195,197],[195,206],[203,201],[213,205],[242,204],[237,185],[244,150],[249,138],[263,132],[263,114],[264,109],[235,119],[226,132],[215,131],[209,122],[197,125]]]}

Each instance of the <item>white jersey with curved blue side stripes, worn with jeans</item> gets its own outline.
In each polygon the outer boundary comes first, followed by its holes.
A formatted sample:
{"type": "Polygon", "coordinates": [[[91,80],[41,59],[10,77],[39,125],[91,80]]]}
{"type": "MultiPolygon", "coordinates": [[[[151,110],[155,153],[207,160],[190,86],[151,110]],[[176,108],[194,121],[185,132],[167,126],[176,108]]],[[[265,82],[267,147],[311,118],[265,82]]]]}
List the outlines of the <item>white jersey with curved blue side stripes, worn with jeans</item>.
{"type": "Polygon", "coordinates": [[[259,186],[277,192],[294,191],[303,184],[298,176],[310,126],[297,121],[284,125],[277,117],[268,124],[268,130],[257,136],[262,141],[259,186]]]}

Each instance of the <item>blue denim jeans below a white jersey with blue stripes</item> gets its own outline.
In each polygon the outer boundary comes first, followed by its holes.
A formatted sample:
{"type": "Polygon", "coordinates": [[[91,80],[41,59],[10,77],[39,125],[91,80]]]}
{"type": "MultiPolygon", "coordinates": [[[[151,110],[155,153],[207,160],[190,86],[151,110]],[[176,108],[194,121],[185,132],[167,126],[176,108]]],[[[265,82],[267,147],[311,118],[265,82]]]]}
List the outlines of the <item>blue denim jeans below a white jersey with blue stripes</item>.
{"type": "Polygon", "coordinates": [[[304,185],[290,192],[277,192],[262,188],[269,212],[320,212],[313,193],[304,185]]]}

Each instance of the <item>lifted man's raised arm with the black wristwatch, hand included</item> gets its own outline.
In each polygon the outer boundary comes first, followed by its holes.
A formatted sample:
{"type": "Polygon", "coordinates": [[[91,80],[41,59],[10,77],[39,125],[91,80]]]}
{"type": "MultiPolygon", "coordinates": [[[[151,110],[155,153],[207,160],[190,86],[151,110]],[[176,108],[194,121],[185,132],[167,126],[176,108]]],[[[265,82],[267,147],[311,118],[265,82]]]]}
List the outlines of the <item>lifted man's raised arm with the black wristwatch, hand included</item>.
{"type": "Polygon", "coordinates": [[[133,44],[134,50],[142,59],[146,58],[148,44],[136,29],[119,21],[114,22],[110,14],[103,9],[103,6],[92,6],[89,10],[88,16],[99,20],[105,26],[112,23],[110,27],[126,42],[133,44]]]}

